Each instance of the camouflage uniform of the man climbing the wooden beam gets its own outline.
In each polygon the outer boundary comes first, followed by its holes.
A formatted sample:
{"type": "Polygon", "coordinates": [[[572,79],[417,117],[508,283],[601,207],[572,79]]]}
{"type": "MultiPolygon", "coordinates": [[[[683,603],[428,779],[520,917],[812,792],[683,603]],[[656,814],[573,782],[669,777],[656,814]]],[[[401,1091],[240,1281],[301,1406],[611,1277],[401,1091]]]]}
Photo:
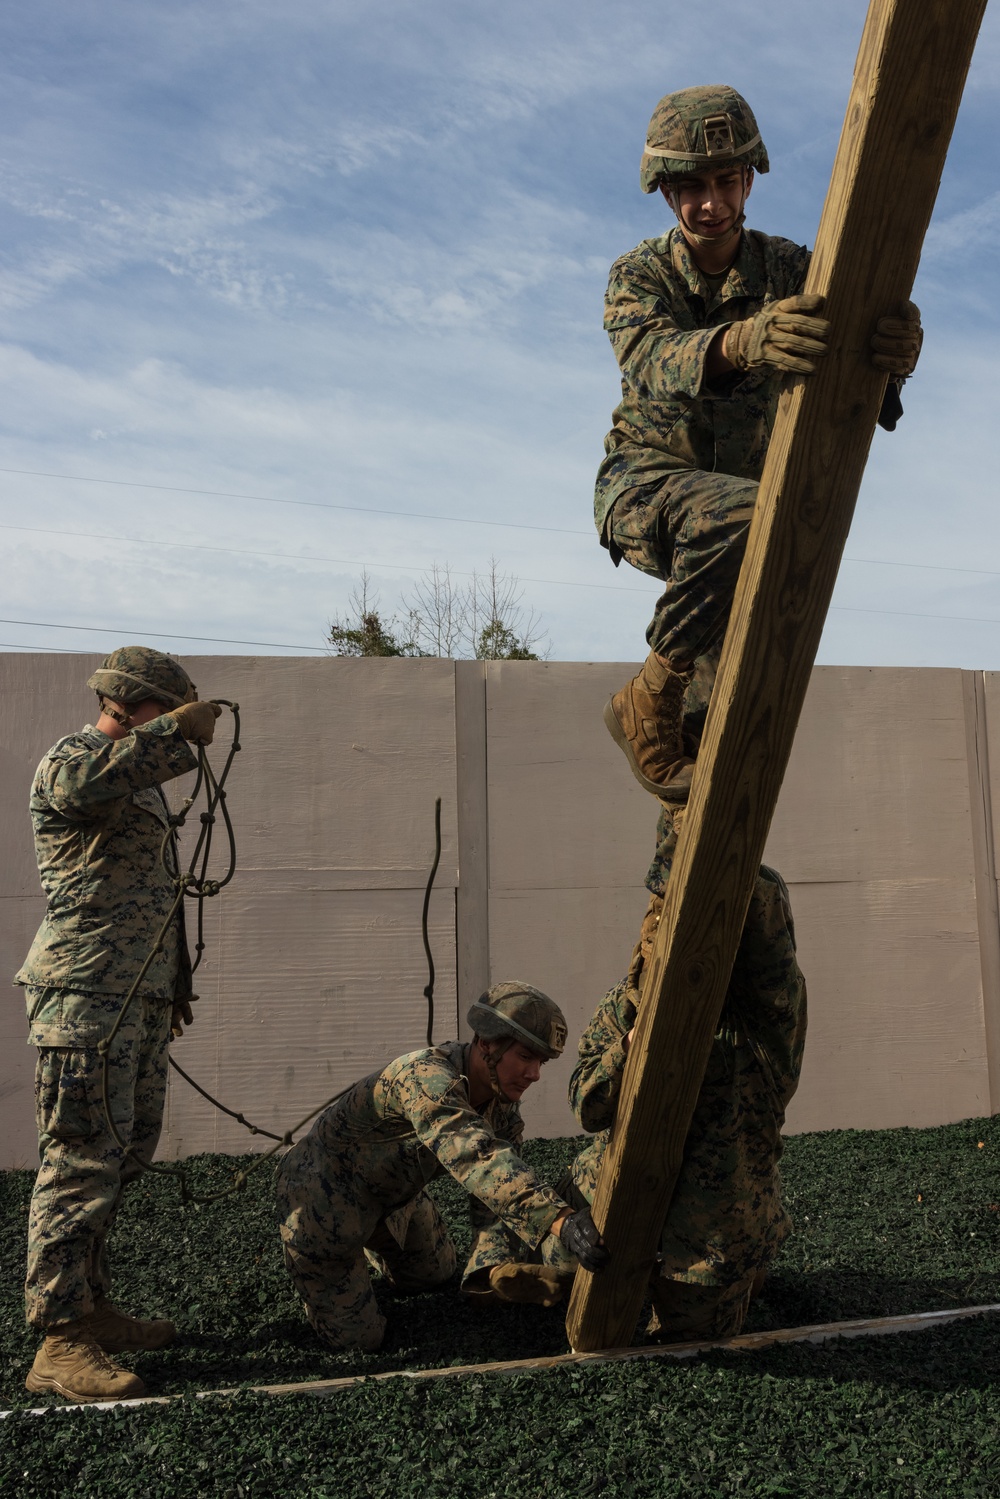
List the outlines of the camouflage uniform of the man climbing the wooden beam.
{"type": "MultiPolygon", "coordinates": [[[[706,382],[718,330],[801,292],[808,252],[744,229],[712,286],[679,228],[645,240],[610,273],[604,327],[622,372],[594,517],[615,565],[666,582],[646,640],[682,663],[718,664],[783,376],[733,372],[706,382]]],[[[687,708],[687,705],[685,705],[687,708]]],[[[697,703],[685,733],[700,739],[697,703]],[[694,717],[693,717],[694,715],[694,717]]]]}

